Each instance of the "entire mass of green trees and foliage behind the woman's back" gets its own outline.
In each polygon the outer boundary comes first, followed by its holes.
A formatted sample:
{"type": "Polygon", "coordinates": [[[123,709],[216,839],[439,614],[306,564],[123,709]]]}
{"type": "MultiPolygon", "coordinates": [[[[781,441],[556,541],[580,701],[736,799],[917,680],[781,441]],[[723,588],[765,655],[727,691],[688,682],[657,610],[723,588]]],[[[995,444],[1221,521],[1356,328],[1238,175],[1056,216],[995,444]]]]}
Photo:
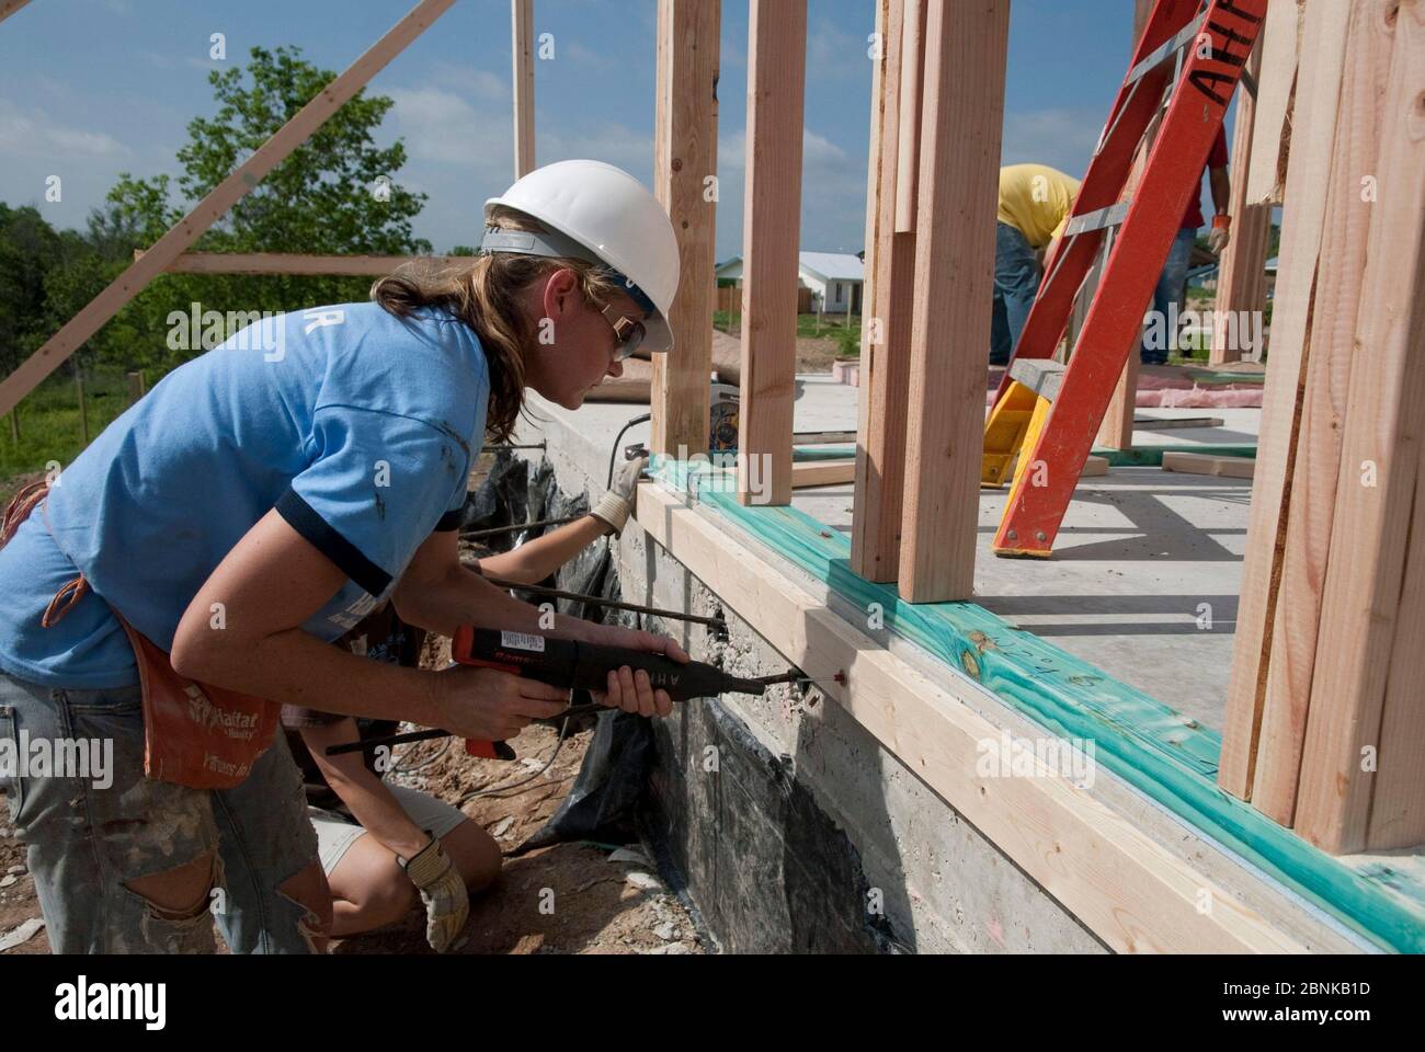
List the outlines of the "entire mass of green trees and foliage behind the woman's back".
{"type": "MultiPolygon", "coordinates": [[[[332,77],[289,47],[254,48],[247,67],[209,74],[217,110],[190,123],[177,180],[123,174],[83,232],[56,231],[34,208],[0,204],[0,373],[13,371],[78,314],[133,262],[135,249],[162,237],[332,77]]],[[[406,161],[405,147],[375,141],[392,105],[390,98],[363,93],[349,100],[195,248],[429,252],[429,242],[412,232],[425,194],[410,192],[396,180],[406,161]]],[[[161,275],[70,358],[64,375],[53,376],[21,405],[19,440],[10,426],[0,439],[0,496],[7,476],[33,472],[50,459],[68,462],[81,448],[76,371],[84,373],[93,436],[127,403],[118,372],[142,369],[154,383],[204,349],[170,346],[171,312],[187,314],[194,302],[224,314],[289,311],[365,299],[369,287],[368,278],[161,275]]]]}

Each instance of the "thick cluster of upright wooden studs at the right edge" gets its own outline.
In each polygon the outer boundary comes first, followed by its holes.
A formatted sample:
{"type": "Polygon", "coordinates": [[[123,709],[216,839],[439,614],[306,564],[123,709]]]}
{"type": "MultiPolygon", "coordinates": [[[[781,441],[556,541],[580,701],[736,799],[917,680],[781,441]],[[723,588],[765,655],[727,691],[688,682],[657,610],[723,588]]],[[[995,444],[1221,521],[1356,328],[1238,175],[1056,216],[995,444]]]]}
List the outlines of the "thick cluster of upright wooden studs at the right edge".
{"type": "Polygon", "coordinates": [[[1220,784],[1342,854],[1425,841],[1425,3],[1301,13],[1220,784]]]}

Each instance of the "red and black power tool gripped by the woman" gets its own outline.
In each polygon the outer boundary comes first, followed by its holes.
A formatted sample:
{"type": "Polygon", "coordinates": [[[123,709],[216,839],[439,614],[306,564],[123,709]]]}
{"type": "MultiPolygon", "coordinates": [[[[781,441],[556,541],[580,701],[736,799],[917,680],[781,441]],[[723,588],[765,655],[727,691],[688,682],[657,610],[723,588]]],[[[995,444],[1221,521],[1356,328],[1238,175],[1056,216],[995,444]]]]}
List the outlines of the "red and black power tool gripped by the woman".
{"type": "MultiPolygon", "coordinates": [[[[674,701],[712,697],[727,691],[761,694],[774,683],[791,683],[805,679],[801,673],[791,671],[782,676],[748,680],[730,676],[704,661],[674,661],[671,657],[653,654],[647,650],[606,647],[597,643],[581,643],[579,640],[524,631],[476,629],[469,624],[462,624],[456,629],[455,640],[450,644],[450,657],[459,664],[499,669],[513,676],[527,676],[551,687],[581,687],[584,690],[607,690],[608,673],[628,666],[634,670],[643,669],[648,674],[648,683],[653,689],[665,690],[674,701]]],[[[571,706],[559,716],[533,720],[533,723],[559,726],[571,716],[601,711],[607,711],[607,706],[571,706]]],[[[326,750],[326,754],[358,753],[375,748],[376,746],[398,746],[408,741],[445,737],[449,731],[443,730],[426,730],[395,734],[386,738],[366,738],[346,746],[332,746],[326,750]]],[[[465,751],[487,760],[514,758],[514,750],[504,741],[476,741],[466,738],[465,751]]]]}

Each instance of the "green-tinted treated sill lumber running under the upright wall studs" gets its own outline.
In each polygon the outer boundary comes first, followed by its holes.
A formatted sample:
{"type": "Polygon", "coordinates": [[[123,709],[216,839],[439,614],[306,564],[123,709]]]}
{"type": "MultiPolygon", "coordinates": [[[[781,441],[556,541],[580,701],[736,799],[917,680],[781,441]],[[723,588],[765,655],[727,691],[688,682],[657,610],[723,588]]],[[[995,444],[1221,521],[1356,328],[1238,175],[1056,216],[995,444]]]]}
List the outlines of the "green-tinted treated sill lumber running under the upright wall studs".
{"type": "Polygon", "coordinates": [[[744,507],[735,495],[697,489],[685,462],[654,458],[653,473],[677,492],[690,492],[691,483],[700,503],[851,603],[862,609],[878,603],[889,631],[953,666],[1010,708],[1054,734],[1092,740],[1106,768],[1371,941],[1399,952],[1425,952],[1425,888],[1385,860],[1352,865],[1332,858],[1220,790],[1217,731],[975,603],[902,602],[895,584],[854,573],[846,539],[797,507],[744,507]]]}

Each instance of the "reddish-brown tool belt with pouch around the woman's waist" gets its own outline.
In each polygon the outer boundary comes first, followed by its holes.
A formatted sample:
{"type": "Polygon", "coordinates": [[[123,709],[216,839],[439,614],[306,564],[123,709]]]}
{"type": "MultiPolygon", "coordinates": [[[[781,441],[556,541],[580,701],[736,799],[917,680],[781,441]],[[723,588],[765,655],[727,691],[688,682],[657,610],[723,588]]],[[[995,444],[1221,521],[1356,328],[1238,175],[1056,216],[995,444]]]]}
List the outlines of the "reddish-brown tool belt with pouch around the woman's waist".
{"type": "MultiPolygon", "coordinates": [[[[44,502],[47,482],[21,489],[0,523],[0,547],[44,502]]],[[[81,573],[54,593],[40,623],[48,629],[90,590],[81,573]]],[[[128,636],[144,697],[144,774],[201,790],[232,788],[252,771],[276,734],[281,706],[252,694],[190,680],[168,654],[110,606],[128,636]]]]}

